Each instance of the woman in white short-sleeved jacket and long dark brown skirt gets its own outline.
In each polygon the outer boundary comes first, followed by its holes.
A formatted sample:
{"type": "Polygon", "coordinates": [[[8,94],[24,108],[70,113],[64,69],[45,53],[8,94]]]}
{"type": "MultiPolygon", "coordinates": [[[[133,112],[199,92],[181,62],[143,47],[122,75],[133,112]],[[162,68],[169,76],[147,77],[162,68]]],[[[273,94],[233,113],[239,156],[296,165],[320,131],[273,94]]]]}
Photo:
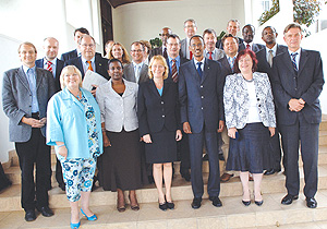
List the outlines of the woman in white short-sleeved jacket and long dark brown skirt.
{"type": "Polygon", "coordinates": [[[101,111],[105,146],[99,159],[100,185],[106,191],[118,192],[119,212],[125,210],[123,192],[129,190],[131,208],[138,210],[135,190],[142,188],[146,179],[136,116],[138,86],[123,80],[120,60],[109,60],[108,69],[111,80],[100,85],[96,95],[101,111]]]}

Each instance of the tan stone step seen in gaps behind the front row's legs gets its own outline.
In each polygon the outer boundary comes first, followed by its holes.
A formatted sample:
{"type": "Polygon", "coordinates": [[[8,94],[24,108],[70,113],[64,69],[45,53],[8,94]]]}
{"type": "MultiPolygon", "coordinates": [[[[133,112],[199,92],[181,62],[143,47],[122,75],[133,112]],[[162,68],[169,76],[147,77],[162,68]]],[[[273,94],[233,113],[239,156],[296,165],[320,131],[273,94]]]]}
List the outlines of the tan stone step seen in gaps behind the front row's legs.
{"type": "MultiPolygon", "coordinates": [[[[319,166],[318,169],[319,182],[318,190],[327,190],[327,165],[319,166]]],[[[300,170],[301,177],[301,190],[303,189],[303,171],[300,170]]],[[[205,194],[204,197],[208,197],[206,193],[206,183],[208,179],[208,173],[204,173],[205,183],[205,194]]],[[[251,182],[252,183],[252,182],[251,182]]],[[[252,190],[251,184],[251,190],[252,190]]],[[[220,196],[231,197],[241,196],[242,185],[239,177],[233,177],[229,182],[221,183],[220,185],[220,196]]],[[[174,201],[186,201],[193,198],[191,182],[186,182],[180,176],[174,176],[172,182],[172,197],[174,201]]],[[[272,193],[286,193],[284,188],[284,176],[282,172],[272,176],[264,176],[262,182],[262,192],[266,194],[272,193]]],[[[156,203],[158,201],[157,190],[155,184],[145,185],[143,189],[136,191],[138,203],[156,203]]],[[[52,208],[69,207],[69,202],[66,201],[65,192],[61,191],[57,184],[52,184],[52,190],[49,191],[50,195],[50,206],[52,208]]],[[[11,188],[2,191],[0,193],[0,212],[20,210],[21,209],[21,185],[14,184],[11,188]]],[[[128,195],[126,195],[128,196],[128,195]]],[[[114,205],[117,201],[117,193],[104,191],[102,188],[97,186],[90,196],[90,206],[106,206],[114,205]]],[[[128,200],[126,200],[128,201],[128,200]]],[[[326,212],[327,213],[327,212],[326,212]]]]}

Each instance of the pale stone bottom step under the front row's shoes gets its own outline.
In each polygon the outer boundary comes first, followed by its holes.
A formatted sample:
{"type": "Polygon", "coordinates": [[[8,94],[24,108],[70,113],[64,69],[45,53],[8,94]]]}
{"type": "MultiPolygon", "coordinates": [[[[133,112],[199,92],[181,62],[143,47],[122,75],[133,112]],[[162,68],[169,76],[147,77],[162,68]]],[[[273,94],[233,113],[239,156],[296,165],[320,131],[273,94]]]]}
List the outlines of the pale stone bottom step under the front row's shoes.
{"type": "MultiPolygon", "coordinates": [[[[264,194],[264,204],[258,207],[251,204],[245,207],[241,196],[221,197],[222,207],[214,207],[211,202],[203,200],[199,209],[192,209],[191,201],[174,201],[175,209],[162,212],[157,203],[142,203],[141,209],[134,212],[128,207],[124,213],[118,213],[114,205],[95,206],[90,209],[98,220],[87,221],[81,217],[83,229],[227,229],[227,228],[300,228],[303,225],[314,225],[305,228],[326,226],[327,191],[316,195],[318,207],[310,209],[305,206],[304,196],[290,206],[280,204],[284,193],[264,194]]],[[[26,222],[24,212],[4,212],[0,214],[0,228],[70,228],[70,208],[55,209],[50,218],[39,215],[35,221],[26,222]]]]}

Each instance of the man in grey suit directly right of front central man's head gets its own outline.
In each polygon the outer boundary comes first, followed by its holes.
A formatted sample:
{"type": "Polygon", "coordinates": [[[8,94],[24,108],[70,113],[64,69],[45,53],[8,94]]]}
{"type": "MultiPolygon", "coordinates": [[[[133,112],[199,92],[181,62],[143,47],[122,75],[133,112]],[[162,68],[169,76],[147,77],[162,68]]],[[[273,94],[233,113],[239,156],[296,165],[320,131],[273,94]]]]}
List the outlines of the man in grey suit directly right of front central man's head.
{"type": "Polygon", "coordinates": [[[223,58],[223,51],[216,48],[217,34],[214,29],[207,28],[203,32],[203,39],[205,41],[204,56],[210,60],[219,60],[223,58]]]}

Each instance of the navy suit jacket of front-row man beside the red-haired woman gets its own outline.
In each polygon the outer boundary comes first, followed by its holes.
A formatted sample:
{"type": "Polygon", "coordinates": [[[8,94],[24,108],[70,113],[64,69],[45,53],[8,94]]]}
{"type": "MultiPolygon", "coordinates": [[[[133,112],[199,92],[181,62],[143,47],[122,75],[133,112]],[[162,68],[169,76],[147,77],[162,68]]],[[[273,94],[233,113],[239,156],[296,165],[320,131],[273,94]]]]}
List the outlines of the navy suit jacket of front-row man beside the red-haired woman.
{"type": "Polygon", "coordinates": [[[218,121],[223,120],[220,74],[220,63],[208,59],[205,59],[202,79],[193,60],[180,68],[181,122],[189,122],[193,133],[199,133],[204,125],[207,132],[215,132],[218,121]]]}

